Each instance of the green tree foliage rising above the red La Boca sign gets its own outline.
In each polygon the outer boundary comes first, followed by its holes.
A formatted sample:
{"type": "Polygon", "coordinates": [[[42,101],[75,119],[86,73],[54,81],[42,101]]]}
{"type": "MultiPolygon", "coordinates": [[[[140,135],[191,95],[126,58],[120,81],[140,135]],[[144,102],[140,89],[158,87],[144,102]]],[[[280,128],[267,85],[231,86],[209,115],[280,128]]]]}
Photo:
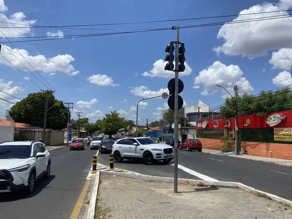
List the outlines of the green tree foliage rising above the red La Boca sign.
{"type": "MultiPolygon", "coordinates": [[[[287,92],[288,89],[289,87],[285,87],[275,92],[262,90],[257,96],[247,93],[244,93],[242,96],[238,95],[238,112],[254,110],[256,114],[263,116],[269,112],[281,111],[281,106],[292,103],[292,94],[287,92]]],[[[292,107],[288,108],[292,109],[292,107]]],[[[224,105],[220,107],[220,111],[225,118],[234,117],[234,99],[231,97],[226,98],[224,105]]]]}

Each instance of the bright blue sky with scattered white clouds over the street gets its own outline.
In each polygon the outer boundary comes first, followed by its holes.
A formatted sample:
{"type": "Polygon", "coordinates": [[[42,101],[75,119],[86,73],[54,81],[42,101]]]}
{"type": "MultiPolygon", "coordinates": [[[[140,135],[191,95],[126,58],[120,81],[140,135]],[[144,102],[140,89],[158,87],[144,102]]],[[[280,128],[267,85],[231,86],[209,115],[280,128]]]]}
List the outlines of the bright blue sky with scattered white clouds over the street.
{"type": "MultiPolygon", "coordinates": [[[[116,110],[121,116],[135,120],[135,106],[142,98],[161,95],[167,91],[167,83],[174,76],[163,67],[164,49],[175,40],[175,31],[163,30],[142,33],[92,36],[63,39],[64,35],[102,34],[137,31],[137,29],[170,28],[175,25],[190,26],[243,19],[286,15],[287,12],[233,16],[173,22],[156,22],[127,25],[102,25],[78,28],[4,28],[26,25],[65,26],[93,25],[159,20],[203,18],[222,15],[237,15],[258,12],[288,10],[292,0],[274,1],[33,1],[0,0],[0,30],[6,37],[58,36],[56,40],[14,42],[20,53],[32,60],[29,63],[44,78],[41,78],[27,61],[15,54],[27,69],[9,52],[17,52],[10,43],[4,43],[1,54],[22,73],[0,57],[1,98],[10,102],[25,98],[27,92],[55,89],[56,98],[74,103],[76,112],[83,112],[91,121],[102,119],[105,113],[116,110]],[[245,11],[244,11],[245,10],[245,11]],[[17,23],[22,25],[15,25],[17,23]],[[114,30],[113,30],[114,29],[114,30]],[[125,30],[126,29],[126,30],[125,30]],[[128,30],[135,29],[135,30],[128,30]],[[42,63],[43,65],[38,64],[42,63]],[[56,69],[64,74],[50,69],[56,69]],[[81,80],[91,82],[88,84],[81,80]],[[9,75],[9,77],[8,77],[9,75]],[[28,77],[25,79],[25,77],[28,77]],[[38,79],[37,79],[38,78],[38,79]],[[45,81],[48,83],[46,83],[45,81]],[[35,83],[35,84],[34,84],[35,83]],[[44,84],[42,84],[44,83],[44,84]],[[98,86],[95,86],[95,85],[98,86]],[[16,87],[17,86],[17,87],[16,87]],[[39,88],[39,87],[40,88],[39,88]],[[109,91],[107,89],[117,91],[109,91]],[[7,96],[10,93],[12,96],[7,96]],[[123,94],[121,94],[123,93],[123,94]]],[[[184,82],[182,93],[185,105],[198,103],[201,99],[218,111],[226,93],[216,84],[232,87],[239,93],[258,94],[262,89],[276,89],[292,84],[291,18],[263,20],[237,24],[215,25],[180,29],[180,41],[185,43],[186,71],[180,73],[184,82]],[[285,71],[286,70],[286,71],[285,71]],[[201,93],[204,92],[204,93],[201,93]]],[[[1,37],[4,35],[0,33],[1,37]]],[[[23,41],[48,38],[9,39],[23,41]]],[[[1,39],[8,42],[7,39],[1,39]]],[[[166,101],[156,98],[142,102],[141,119],[160,119],[166,101]]],[[[0,100],[0,117],[11,105],[0,100]]],[[[76,118],[73,111],[72,116],[76,118]]]]}

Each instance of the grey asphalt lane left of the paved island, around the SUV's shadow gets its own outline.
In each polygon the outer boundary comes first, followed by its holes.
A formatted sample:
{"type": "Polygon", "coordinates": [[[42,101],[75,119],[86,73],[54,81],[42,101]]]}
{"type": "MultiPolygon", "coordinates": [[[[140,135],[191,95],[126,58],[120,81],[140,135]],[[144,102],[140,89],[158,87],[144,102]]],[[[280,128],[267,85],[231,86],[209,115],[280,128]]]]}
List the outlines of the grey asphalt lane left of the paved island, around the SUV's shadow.
{"type": "Polygon", "coordinates": [[[70,218],[96,153],[89,147],[85,149],[72,152],[64,147],[51,151],[50,178],[40,179],[29,196],[0,193],[0,218],[70,218]]]}

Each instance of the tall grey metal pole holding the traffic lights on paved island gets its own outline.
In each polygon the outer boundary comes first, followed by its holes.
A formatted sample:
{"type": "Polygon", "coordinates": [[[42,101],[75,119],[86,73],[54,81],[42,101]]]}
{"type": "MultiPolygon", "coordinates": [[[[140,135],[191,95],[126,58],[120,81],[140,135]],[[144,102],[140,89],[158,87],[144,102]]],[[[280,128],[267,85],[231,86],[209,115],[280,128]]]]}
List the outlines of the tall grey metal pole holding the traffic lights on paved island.
{"type": "Polygon", "coordinates": [[[174,193],[178,193],[178,47],[179,26],[175,26],[175,91],[174,91],[174,193]]]}

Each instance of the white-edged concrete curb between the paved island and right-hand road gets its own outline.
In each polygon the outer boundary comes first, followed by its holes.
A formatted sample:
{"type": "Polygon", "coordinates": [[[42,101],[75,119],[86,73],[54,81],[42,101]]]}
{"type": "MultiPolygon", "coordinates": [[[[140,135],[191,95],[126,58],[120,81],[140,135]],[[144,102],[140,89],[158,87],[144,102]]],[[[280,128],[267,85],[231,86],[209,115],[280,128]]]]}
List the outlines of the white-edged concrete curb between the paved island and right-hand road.
{"type": "MultiPolygon", "coordinates": [[[[124,176],[128,178],[133,179],[140,179],[140,180],[152,180],[152,181],[160,181],[160,182],[167,182],[167,183],[173,183],[173,178],[168,177],[159,177],[159,176],[149,176],[149,175],[143,175],[143,174],[133,174],[133,173],[120,173],[120,172],[108,172],[108,171],[100,171],[100,174],[107,174],[107,175],[117,175],[117,176],[124,176]]],[[[178,179],[178,183],[181,184],[194,184],[197,185],[198,182],[202,182],[204,186],[211,186],[211,187],[223,187],[223,188],[240,188],[246,192],[251,192],[253,194],[262,195],[263,197],[269,197],[270,199],[277,201],[282,204],[286,204],[292,207],[292,201],[289,201],[287,199],[283,199],[279,196],[263,192],[260,190],[256,190],[253,187],[244,185],[242,183],[235,183],[235,182],[221,182],[221,181],[205,181],[205,180],[191,180],[191,179],[178,179]]]]}

